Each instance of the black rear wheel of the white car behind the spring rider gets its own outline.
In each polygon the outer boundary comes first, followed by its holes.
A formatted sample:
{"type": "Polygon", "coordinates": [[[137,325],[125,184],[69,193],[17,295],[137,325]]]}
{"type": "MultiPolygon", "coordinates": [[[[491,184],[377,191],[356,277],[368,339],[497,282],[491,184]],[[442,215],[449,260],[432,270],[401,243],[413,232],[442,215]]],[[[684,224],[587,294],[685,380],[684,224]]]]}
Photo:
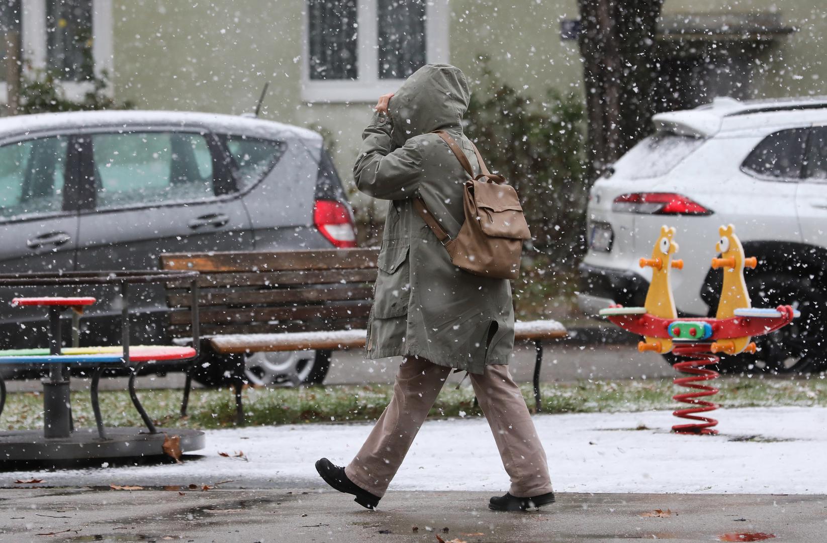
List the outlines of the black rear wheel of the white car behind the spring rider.
{"type": "Polygon", "coordinates": [[[774,374],[808,373],[827,367],[825,360],[825,302],[827,298],[810,281],[795,275],[764,274],[747,280],[753,307],[791,305],[801,317],[781,330],[758,336],[758,352],[742,358],[745,369],[774,374]]]}

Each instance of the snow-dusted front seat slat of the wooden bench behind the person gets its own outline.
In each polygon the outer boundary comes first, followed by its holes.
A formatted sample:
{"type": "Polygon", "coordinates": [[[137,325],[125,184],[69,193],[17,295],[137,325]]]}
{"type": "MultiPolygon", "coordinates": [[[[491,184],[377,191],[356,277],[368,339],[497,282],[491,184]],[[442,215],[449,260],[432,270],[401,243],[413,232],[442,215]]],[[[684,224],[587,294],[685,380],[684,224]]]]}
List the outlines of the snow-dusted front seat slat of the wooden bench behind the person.
{"type": "MultiPolygon", "coordinates": [[[[566,337],[566,328],[557,321],[514,323],[515,341],[536,341],[566,337]]],[[[274,350],[347,349],[364,347],[365,330],[293,332],[281,334],[237,334],[210,338],[213,349],[222,354],[274,350]]]]}

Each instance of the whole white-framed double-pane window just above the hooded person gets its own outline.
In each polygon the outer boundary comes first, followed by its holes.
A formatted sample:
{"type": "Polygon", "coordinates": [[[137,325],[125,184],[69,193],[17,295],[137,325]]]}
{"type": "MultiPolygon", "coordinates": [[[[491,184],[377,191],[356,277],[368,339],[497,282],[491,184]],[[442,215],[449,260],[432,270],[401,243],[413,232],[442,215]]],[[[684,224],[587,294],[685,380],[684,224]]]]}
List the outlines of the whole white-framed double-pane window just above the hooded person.
{"type": "Polygon", "coordinates": [[[303,98],[370,102],[447,62],[447,0],[307,0],[303,98]]]}

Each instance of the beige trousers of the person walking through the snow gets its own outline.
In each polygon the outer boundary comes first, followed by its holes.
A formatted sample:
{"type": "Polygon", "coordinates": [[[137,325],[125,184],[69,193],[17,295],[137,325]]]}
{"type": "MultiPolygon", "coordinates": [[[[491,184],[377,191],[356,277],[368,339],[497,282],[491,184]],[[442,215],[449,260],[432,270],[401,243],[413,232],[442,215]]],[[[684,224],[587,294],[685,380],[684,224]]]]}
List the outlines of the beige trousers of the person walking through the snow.
{"type": "MultiPolygon", "coordinates": [[[[422,358],[412,356],[404,360],[396,374],[394,397],[365,445],[345,468],[348,479],[375,496],[385,495],[450,373],[451,368],[422,358]]],[[[489,365],[485,374],[469,375],[511,478],[509,493],[531,498],[552,492],[546,453],[509,367],[489,365]]]]}

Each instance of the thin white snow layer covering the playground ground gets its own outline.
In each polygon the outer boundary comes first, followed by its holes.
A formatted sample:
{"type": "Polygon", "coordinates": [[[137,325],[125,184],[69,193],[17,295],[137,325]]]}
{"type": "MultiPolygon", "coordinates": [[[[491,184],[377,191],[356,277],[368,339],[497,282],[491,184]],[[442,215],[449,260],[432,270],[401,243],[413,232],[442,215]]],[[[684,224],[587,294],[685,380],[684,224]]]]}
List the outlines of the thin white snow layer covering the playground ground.
{"type": "MultiPolygon", "coordinates": [[[[719,436],[669,433],[677,422],[671,412],[539,415],[534,421],[557,492],[827,493],[827,408],[715,414],[719,436]],[[648,429],[636,430],[639,425],[648,429]]],[[[35,477],[53,486],[232,480],[222,488],[317,488],[313,462],[327,456],[346,463],[369,431],[368,424],[208,431],[203,459],[181,465],[6,473],[0,485],[35,477]],[[249,461],[218,455],[239,450],[249,461]]],[[[500,492],[508,476],[484,419],[435,420],[419,432],[394,488],[500,492]]]]}

